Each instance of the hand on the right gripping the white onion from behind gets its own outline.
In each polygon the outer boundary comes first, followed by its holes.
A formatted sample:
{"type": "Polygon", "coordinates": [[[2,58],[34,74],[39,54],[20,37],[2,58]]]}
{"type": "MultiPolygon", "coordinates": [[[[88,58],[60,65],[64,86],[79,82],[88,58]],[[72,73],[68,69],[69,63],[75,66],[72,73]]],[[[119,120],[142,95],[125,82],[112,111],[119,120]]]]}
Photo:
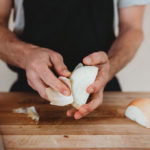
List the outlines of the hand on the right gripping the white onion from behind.
{"type": "Polygon", "coordinates": [[[99,51],[95,52],[83,59],[85,65],[97,66],[99,72],[95,82],[87,88],[87,92],[91,94],[88,104],[85,104],[76,109],[70,109],[67,111],[67,116],[73,116],[75,119],[80,119],[90,112],[94,111],[103,101],[103,91],[106,83],[109,80],[109,60],[107,54],[99,51]]]}

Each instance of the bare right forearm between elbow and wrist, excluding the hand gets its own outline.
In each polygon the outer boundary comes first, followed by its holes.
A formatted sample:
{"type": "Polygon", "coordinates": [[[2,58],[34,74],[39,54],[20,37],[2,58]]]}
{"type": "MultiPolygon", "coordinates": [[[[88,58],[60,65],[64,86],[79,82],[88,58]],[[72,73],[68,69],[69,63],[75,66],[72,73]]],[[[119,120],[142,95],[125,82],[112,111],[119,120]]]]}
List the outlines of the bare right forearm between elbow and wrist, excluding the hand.
{"type": "Polygon", "coordinates": [[[138,29],[128,29],[120,33],[108,53],[110,60],[109,80],[132,60],[142,40],[143,33],[138,29]]]}

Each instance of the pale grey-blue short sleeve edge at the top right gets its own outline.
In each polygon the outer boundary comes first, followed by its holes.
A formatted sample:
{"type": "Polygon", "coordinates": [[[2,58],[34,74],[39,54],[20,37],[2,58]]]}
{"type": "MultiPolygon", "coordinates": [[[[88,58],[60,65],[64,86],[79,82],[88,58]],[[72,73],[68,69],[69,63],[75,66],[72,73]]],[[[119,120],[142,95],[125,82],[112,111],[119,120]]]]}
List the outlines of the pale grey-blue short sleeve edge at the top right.
{"type": "Polygon", "coordinates": [[[150,4],[150,0],[118,0],[119,8],[148,4],[150,4]]]}

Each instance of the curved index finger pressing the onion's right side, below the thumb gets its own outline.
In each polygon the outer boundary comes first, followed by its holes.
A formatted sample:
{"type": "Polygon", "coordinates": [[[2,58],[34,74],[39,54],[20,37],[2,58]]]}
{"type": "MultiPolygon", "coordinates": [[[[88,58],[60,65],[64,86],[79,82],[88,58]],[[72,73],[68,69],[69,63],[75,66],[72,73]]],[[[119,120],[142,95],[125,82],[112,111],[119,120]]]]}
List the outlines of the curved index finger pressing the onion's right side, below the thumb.
{"type": "Polygon", "coordinates": [[[99,67],[99,72],[98,75],[96,77],[96,80],[94,81],[94,83],[92,83],[88,88],[87,88],[87,92],[88,93],[97,93],[99,90],[101,90],[102,88],[104,88],[104,86],[106,85],[106,83],[108,82],[108,76],[109,76],[109,64],[103,64],[100,65],[99,67]]]}

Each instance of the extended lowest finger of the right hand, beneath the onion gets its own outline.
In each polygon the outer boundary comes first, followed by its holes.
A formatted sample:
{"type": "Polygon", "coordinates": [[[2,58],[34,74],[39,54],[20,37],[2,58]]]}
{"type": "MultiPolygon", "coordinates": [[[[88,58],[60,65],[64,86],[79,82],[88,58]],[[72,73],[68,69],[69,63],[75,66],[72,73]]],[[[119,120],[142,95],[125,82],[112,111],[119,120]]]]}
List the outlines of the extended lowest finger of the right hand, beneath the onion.
{"type": "Polygon", "coordinates": [[[74,118],[81,119],[90,112],[94,111],[102,103],[102,95],[92,97],[91,101],[88,104],[81,106],[79,110],[74,114],[74,118]]]}

